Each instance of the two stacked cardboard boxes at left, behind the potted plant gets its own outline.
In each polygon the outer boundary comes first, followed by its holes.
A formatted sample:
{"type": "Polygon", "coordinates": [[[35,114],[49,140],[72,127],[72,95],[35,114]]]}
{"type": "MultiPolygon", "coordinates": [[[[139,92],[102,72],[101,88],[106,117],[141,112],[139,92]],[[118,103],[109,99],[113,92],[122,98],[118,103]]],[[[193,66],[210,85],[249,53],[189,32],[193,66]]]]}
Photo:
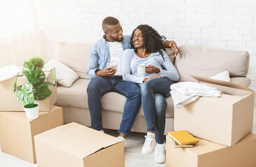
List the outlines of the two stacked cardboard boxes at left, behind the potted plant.
{"type": "MultiPolygon", "coordinates": [[[[52,81],[52,69],[45,68],[46,80],[52,81]]],[[[24,84],[27,78],[17,80],[17,86],[24,84]]],[[[57,100],[57,87],[49,86],[52,95],[39,103],[39,117],[28,120],[23,105],[17,102],[13,92],[15,78],[0,82],[0,145],[1,151],[12,154],[31,163],[36,163],[34,136],[49,129],[63,125],[63,111],[54,106],[57,100]]]]}

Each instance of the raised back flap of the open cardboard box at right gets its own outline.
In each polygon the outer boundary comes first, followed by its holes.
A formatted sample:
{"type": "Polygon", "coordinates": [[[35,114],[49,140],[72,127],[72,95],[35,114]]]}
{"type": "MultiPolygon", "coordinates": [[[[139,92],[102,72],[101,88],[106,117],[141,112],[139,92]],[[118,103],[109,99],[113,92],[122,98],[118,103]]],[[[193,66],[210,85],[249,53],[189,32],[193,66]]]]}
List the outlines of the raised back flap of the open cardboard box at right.
{"type": "Polygon", "coordinates": [[[197,81],[200,82],[205,82],[208,84],[215,84],[215,85],[220,85],[220,86],[227,86],[229,88],[237,88],[237,89],[241,89],[241,90],[248,90],[250,92],[253,92],[253,90],[251,90],[250,88],[240,85],[240,84],[234,84],[231,82],[227,82],[227,81],[220,81],[218,79],[210,79],[210,78],[206,78],[206,77],[198,77],[198,76],[194,76],[194,75],[190,75],[191,77],[193,77],[194,79],[197,79],[197,81]]]}

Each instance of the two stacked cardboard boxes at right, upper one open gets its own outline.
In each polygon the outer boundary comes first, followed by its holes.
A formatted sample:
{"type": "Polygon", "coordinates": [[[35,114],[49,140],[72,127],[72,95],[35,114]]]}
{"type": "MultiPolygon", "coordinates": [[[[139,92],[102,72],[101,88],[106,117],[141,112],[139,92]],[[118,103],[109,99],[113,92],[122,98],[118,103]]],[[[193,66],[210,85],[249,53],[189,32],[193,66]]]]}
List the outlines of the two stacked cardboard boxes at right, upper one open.
{"type": "Polygon", "coordinates": [[[174,129],[199,138],[193,148],[174,148],[166,136],[166,166],[256,166],[253,130],[255,93],[239,84],[194,77],[222,91],[221,97],[199,100],[174,111],[174,129]]]}

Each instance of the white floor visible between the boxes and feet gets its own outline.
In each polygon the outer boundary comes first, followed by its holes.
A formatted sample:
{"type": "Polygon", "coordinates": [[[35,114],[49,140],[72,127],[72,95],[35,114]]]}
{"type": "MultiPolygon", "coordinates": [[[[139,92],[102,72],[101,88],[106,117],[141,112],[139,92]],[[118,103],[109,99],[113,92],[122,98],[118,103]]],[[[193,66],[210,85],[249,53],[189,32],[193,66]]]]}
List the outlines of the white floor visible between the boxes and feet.
{"type": "MultiPolygon", "coordinates": [[[[115,130],[106,129],[107,134],[117,136],[118,132],[115,130]]],[[[254,108],[253,116],[253,132],[256,134],[256,106],[254,108]]],[[[144,143],[144,135],[141,133],[132,133],[127,138],[125,145],[125,167],[134,166],[166,166],[165,164],[157,164],[154,160],[154,154],[143,155],[141,154],[141,148],[144,143]]],[[[36,167],[36,164],[31,164],[27,161],[13,157],[10,154],[0,152],[0,167],[36,167]]]]}

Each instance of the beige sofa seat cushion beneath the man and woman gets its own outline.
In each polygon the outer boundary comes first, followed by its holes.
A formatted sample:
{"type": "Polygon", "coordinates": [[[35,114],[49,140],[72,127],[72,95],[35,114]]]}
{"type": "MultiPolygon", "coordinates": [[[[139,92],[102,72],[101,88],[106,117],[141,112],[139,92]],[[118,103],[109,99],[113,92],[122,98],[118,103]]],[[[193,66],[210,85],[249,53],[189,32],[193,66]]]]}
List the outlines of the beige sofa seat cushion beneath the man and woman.
{"type": "MultiPolygon", "coordinates": [[[[87,103],[87,85],[89,79],[76,80],[69,88],[57,86],[58,99],[57,106],[76,106],[84,109],[89,109],[87,103]]],[[[118,93],[110,92],[101,97],[102,109],[122,113],[124,110],[126,97],[118,93]]],[[[166,117],[173,118],[173,100],[171,97],[166,98],[167,109],[166,117]]],[[[138,116],[144,116],[142,107],[138,112],[138,116]]]]}

